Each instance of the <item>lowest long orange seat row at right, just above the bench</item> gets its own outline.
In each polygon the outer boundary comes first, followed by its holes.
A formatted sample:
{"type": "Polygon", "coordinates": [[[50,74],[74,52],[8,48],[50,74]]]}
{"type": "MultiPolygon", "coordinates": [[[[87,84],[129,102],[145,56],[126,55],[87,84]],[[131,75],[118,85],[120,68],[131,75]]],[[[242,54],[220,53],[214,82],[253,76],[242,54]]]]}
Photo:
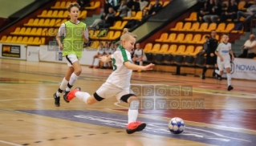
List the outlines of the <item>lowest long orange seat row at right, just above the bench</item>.
{"type": "Polygon", "coordinates": [[[185,45],[177,46],[175,44],[159,44],[156,43],[154,46],[152,43],[147,43],[144,47],[145,53],[162,53],[162,54],[173,54],[173,55],[197,55],[199,51],[201,51],[202,47],[194,47],[192,45],[185,47],[185,45]]]}

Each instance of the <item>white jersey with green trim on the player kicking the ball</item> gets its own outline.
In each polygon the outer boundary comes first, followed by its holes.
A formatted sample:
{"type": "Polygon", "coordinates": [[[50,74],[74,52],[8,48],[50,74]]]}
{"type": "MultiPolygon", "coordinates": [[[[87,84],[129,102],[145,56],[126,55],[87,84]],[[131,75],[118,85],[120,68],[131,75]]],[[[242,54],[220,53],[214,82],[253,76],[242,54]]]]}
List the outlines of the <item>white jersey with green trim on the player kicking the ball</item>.
{"type": "Polygon", "coordinates": [[[113,55],[111,55],[113,63],[113,72],[108,76],[106,83],[115,85],[122,89],[130,87],[132,70],[124,66],[124,63],[129,61],[132,63],[131,54],[124,47],[118,47],[113,55]]]}

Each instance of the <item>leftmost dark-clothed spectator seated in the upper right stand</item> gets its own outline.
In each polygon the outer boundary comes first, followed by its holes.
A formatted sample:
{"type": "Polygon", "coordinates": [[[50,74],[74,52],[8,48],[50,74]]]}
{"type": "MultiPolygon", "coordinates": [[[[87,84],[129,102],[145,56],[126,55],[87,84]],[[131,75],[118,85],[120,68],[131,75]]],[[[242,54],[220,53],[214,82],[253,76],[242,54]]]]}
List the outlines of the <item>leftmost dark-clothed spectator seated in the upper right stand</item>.
{"type": "Polygon", "coordinates": [[[204,2],[204,5],[201,7],[201,9],[197,12],[197,22],[203,22],[203,17],[205,15],[208,15],[210,14],[211,12],[211,8],[214,6],[214,2],[213,0],[210,0],[209,2],[208,1],[205,1],[204,2]],[[202,18],[200,20],[200,18],[202,18]]]}

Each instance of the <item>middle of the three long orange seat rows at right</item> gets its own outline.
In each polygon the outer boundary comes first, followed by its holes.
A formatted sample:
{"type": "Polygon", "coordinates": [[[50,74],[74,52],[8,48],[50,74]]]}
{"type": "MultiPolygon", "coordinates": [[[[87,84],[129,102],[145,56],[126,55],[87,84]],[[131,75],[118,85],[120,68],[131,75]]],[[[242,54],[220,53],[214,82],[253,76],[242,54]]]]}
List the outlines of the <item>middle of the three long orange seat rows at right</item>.
{"type": "MultiPolygon", "coordinates": [[[[205,36],[209,34],[175,34],[175,33],[163,33],[160,39],[156,39],[156,42],[160,43],[195,43],[202,44],[205,43],[205,36]]],[[[216,36],[219,39],[219,35],[216,36]]]]}

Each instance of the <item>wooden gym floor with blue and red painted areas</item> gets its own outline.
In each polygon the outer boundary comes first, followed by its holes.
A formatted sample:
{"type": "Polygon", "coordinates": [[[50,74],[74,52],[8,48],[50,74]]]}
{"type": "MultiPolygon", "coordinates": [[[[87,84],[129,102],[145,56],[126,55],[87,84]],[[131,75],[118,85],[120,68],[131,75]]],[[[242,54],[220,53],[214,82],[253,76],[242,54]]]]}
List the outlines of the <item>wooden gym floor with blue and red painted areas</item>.
{"type": "MultiPolygon", "coordinates": [[[[82,67],[74,87],[93,94],[111,70],[82,67]]],[[[154,71],[132,74],[132,86],[193,87],[193,94],[143,99],[202,99],[204,109],[144,109],[138,120],[147,123],[142,132],[128,135],[128,104],[115,98],[87,106],[79,99],[55,107],[53,94],[67,70],[66,64],[30,63],[0,59],[0,145],[254,145],[256,143],[255,81],[232,80],[233,91],[226,91],[226,79],[201,80],[154,71]],[[185,120],[185,132],[173,135],[168,122],[185,120]]]]}

